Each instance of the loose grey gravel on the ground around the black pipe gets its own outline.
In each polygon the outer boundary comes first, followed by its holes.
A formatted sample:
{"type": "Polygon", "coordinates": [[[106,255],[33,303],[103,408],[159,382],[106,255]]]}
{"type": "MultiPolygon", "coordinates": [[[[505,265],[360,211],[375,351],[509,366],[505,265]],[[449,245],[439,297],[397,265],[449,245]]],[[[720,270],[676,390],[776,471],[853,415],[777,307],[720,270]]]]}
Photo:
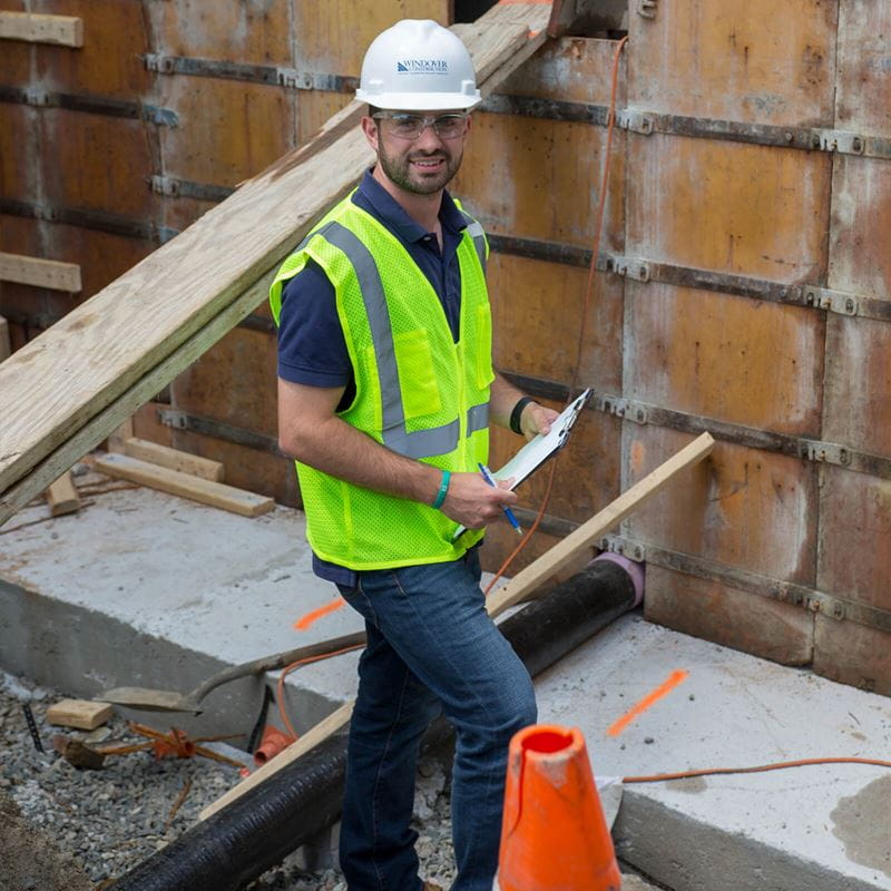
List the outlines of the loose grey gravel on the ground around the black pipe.
{"type": "MultiPolygon", "coordinates": [[[[101,888],[192,828],[241,779],[228,764],[156,758],[150,751],[108,756],[100,770],[76,768],[52,748],[53,735],[102,746],[146,738],[117,716],[91,734],[48,724],[47,708],[67,695],[0,672],[0,822],[10,836],[0,835],[0,891],[101,888]],[[45,753],[29,733],[26,703],[45,753]],[[35,864],[42,860],[53,864],[38,875],[35,864]]],[[[448,888],[454,878],[448,783],[432,760],[419,766],[414,825],[422,874],[448,888]]],[[[300,858],[288,858],[252,891],[345,891],[343,875],[325,859],[322,869],[305,871],[300,858]]]]}

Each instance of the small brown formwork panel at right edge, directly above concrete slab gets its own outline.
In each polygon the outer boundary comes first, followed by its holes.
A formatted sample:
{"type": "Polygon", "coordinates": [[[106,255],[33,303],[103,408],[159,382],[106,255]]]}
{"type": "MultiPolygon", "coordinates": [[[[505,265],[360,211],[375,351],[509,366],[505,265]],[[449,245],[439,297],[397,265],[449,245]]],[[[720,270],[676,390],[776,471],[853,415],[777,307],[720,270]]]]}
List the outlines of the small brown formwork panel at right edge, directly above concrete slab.
{"type": "Polygon", "coordinates": [[[813,668],[832,681],[891,696],[891,634],[816,616],[813,668]]]}

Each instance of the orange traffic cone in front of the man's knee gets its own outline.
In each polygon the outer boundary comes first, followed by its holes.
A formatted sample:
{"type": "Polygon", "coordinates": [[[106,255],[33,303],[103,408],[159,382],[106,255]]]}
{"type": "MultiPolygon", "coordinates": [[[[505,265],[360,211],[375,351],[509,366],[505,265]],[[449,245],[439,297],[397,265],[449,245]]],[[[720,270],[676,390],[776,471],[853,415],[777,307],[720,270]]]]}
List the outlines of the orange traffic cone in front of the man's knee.
{"type": "Polygon", "coordinates": [[[578,727],[539,724],[510,741],[495,888],[621,888],[613,839],[578,727]]]}

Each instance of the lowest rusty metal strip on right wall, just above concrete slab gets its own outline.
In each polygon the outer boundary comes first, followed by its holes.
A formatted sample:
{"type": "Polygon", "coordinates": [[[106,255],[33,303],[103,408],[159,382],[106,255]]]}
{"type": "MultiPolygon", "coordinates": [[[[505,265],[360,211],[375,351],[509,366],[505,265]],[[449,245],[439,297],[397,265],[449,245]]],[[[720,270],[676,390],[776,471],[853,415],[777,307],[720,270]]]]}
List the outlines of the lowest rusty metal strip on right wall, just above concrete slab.
{"type": "Polygon", "coordinates": [[[771,600],[792,604],[811,613],[822,613],[839,621],[854,621],[869,628],[891,631],[891,611],[849,600],[826,591],[819,591],[793,581],[762,576],[747,569],[717,564],[703,557],[668,550],[648,542],[623,536],[605,536],[598,542],[601,550],[624,554],[634,560],[645,560],[654,566],[695,576],[707,581],[717,581],[736,590],[755,594],[771,600]]]}

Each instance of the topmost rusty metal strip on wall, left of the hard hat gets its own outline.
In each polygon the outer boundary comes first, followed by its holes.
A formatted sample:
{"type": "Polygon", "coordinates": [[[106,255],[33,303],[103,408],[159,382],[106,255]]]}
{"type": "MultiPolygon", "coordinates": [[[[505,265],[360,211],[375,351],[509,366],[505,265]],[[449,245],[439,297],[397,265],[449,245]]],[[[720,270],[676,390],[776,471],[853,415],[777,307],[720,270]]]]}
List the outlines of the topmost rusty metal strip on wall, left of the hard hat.
{"type": "Polygon", "coordinates": [[[359,78],[347,75],[327,75],[317,71],[297,71],[274,65],[246,65],[222,59],[198,59],[189,56],[165,56],[148,52],[143,56],[146,70],[158,75],[189,75],[226,80],[246,80],[298,90],[323,90],[326,92],[354,92],[359,78]]]}

